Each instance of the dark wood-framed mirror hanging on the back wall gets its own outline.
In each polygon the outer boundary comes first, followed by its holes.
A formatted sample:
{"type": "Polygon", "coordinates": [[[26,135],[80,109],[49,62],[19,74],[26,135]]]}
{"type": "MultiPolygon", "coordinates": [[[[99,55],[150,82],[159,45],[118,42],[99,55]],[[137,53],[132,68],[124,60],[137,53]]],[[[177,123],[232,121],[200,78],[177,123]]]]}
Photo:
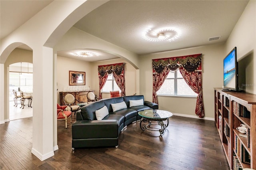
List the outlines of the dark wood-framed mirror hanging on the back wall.
{"type": "Polygon", "coordinates": [[[69,85],[85,85],[85,72],[69,71],[69,85]]]}

